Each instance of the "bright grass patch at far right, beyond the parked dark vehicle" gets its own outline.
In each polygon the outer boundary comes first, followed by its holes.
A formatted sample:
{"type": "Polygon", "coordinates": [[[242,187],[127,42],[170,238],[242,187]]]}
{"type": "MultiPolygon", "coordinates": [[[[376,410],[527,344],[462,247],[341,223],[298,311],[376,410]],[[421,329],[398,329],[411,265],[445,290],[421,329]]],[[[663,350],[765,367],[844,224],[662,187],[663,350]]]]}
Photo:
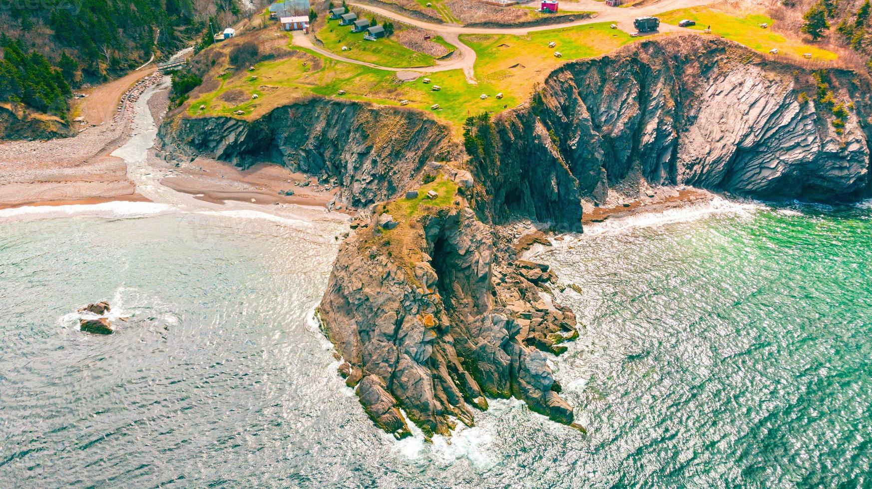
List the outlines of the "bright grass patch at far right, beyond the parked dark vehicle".
{"type": "Polygon", "coordinates": [[[804,53],[812,53],[812,58],[820,61],[828,61],[838,58],[835,52],[822,50],[813,45],[804,44],[798,39],[788,39],[773,32],[771,29],[762,29],[760,24],[773,25],[773,19],[762,15],[748,15],[737,17],[722,10],[707,7],[694,7],[691,9],[672,10],[660,14],[660,20],[666,24],[678,24],[683,19],[690,19],[697,24],[690,27],[696,31],[703,31],[708,25],[712,26],[712,36],[721,36],[739,44],[761,52],[769,52],[777,48],[779,54],[785,54],[794,58],[802,58],[804,53]]]}

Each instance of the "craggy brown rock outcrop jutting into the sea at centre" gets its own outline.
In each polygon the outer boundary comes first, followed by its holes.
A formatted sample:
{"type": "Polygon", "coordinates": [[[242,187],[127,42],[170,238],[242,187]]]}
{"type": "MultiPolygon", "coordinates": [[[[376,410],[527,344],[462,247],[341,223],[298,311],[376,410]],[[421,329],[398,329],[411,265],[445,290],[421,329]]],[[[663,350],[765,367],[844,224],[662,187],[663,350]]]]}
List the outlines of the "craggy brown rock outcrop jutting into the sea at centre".
{"type": "Polygon", "coordinates": [[[547,354],[565,350],[576,317],[544,300],[523,273],[530,262],[511,261],[512,248],[457,201],[390,230],[377,216],[358,228],[319,308],[325,333],[348,375],[361,371],[364,409],[398,438],[409,433],[403,412],[427,435],[448,434],[455,420],[473,424],[486,397],[517,397],[571,424],[547,354]]]}

